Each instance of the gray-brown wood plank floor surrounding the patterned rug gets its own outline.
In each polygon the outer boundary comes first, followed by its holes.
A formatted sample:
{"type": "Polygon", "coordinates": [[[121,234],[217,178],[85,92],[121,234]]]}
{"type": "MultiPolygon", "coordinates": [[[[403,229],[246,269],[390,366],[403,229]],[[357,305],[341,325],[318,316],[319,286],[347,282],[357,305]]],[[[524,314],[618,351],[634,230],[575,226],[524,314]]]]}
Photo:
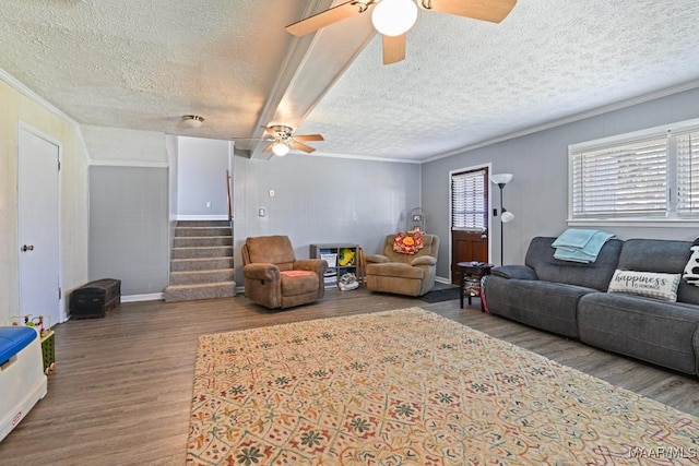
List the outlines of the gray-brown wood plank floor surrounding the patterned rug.
{"type": "Polygon", "coordinates": [[[181,465],[197,337],[310,319],[418,306],[564,365],[699,415],[699,379],[607,354],[479,311],[459,300],[328,290],[311,306],[269,311],[236,298],[123,303],[105,319],[56,330],[48,394],[0,442],[0,464],[181,465]]]}

